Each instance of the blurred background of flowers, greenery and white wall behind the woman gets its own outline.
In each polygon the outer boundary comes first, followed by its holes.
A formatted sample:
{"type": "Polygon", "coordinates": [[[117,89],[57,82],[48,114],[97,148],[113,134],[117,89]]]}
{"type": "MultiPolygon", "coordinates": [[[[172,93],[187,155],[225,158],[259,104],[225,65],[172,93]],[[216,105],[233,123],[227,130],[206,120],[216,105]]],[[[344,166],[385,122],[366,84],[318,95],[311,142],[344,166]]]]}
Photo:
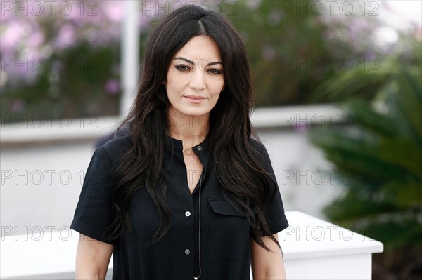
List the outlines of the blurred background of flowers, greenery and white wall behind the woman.
{"type": "Polygon", "coordinates": [[[421,1],[139,1],[129,23],[129,1],[1,1],[1,235],[70,225],[149,32],[187,2],[245,42],[286,210],[383,242],[373,279],[419,279],[421,1]]]}

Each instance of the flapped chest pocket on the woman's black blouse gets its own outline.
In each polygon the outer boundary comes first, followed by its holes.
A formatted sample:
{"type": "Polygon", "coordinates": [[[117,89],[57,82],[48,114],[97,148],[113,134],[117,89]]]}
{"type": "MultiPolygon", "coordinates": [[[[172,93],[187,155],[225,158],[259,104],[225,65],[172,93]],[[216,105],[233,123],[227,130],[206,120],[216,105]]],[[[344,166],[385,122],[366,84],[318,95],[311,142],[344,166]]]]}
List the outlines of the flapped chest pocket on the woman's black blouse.
{"type": "Polygon", "coordinates": [[[208,204],[208,262],[242,262],[250,252],[250,225],[246,215],[226,199],[208,199],[208,204]]]}

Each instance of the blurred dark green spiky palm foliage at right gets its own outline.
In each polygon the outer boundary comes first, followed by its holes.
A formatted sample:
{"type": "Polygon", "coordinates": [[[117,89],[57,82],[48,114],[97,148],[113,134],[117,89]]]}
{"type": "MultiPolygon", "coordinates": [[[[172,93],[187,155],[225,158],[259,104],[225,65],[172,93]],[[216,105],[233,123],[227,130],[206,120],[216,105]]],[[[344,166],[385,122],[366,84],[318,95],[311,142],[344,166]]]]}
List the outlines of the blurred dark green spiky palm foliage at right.
{"type": "MultiPolygon", "coordinates": [[[[416,44],[414,52],[420,51],[416,44]]],[[[338,173],[353,179],[345,185],[345,195],[328,205],[325,214],[333,222],[383,242],[387,254],[422,250],[421,61],[416,59],[406,67],[399,60],[387,62],[383,71],[368,75],[383,83],[377,102],[353,98],[344,103],[352,124],[309,134],[338,173]]],[[[372,82],[358,80],[360,75],[347,73],[342,83],[331,83],[326,92],[342,94],[353,82],[372,82]]],[[[415,255],[409,258],[416,260],[415,255]]],[[[406,262],[414,261],[409,258],[406,262]]]]}

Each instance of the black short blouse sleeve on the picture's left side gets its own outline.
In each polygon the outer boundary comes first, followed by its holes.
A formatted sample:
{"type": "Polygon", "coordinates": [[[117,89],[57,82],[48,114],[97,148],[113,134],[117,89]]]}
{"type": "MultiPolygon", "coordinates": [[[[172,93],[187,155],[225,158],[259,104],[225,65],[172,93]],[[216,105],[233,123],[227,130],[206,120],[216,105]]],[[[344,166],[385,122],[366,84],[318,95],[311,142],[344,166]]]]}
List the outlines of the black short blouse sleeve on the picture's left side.
{"type": "Polygon", "coordinates": [[[98,147],[89,163],[71,229],[93,239],[113,244],[107,232],[111,211],[112,164],[106,149],[98,147]]]}

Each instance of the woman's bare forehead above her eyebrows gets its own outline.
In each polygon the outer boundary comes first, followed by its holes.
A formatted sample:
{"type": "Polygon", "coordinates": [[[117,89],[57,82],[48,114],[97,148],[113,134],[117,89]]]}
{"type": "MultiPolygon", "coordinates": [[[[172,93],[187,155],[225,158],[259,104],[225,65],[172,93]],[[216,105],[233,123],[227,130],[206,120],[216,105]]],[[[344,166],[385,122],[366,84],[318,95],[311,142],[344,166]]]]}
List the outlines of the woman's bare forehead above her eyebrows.
{"type": "Polygon", "coordinates": [[[174,57],[194,58],[195,60],[207,59],[220,61],[219,48],[209,36],[192,37],[174,57]]]}

